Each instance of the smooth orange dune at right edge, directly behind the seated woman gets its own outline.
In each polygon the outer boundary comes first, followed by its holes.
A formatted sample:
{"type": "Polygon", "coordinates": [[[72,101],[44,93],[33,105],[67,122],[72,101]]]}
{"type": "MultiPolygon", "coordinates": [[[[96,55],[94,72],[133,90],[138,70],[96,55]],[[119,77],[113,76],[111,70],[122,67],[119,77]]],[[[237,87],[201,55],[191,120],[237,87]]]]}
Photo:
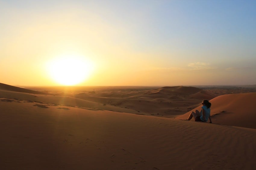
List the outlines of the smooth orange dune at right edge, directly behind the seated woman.
{"type": "MultiPolygon", "coordinates": [[[[256,93],[226,94],[210,100],[212,121],[218,124],[256,129],[256,93]]],[[[198,106],[195,109],[200,109],[198,106]]],[[[193,110],[195,110],[193,109],[193,110]]],[[[176,119],[187,119],[191,111],[176,119]]]]}

